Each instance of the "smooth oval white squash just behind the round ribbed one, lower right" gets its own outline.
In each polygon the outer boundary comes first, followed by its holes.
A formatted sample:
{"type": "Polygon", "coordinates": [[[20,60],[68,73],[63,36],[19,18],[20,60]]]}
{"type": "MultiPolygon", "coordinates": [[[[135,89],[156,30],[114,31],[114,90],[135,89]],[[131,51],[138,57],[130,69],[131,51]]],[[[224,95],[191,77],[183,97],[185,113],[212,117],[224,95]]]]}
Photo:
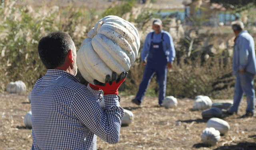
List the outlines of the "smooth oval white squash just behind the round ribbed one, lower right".
{"type": "Polygon", "coordinates": [[[220,134],[225,134],[226,132],[228,132],[228,130],[230,130],[228,122],[220,118],[210,118],[207,121],[207,127],[215,128],[216,130],[220,131],[220,134]]]}

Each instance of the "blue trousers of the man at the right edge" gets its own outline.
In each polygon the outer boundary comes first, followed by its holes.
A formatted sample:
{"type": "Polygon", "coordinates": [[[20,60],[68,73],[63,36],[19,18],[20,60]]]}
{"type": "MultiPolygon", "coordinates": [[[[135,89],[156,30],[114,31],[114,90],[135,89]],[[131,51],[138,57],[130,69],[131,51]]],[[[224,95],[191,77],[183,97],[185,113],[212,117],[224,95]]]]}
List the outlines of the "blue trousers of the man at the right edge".
{"type": "Polygon", "coordinates": [[[246,112],[254,112],[255,110],[255,90],[253,86],[254,75],[250,73],[240,73],[238,72],[236,75],[236,84],[234,90],[234,104],[228,110],[229,112],[237,112],[239,111],[239,106],[241,104],[241,100],[246,94],[247,100],[247,108],[246,112]]]}

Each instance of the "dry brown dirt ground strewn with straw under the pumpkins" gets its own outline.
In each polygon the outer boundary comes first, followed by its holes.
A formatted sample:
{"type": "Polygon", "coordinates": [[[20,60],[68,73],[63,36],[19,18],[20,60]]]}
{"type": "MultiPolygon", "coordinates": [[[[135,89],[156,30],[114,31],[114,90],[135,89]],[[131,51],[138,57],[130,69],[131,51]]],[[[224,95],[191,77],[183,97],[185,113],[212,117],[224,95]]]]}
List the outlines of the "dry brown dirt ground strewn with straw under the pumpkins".
{"type": "MultiPolygon", "coordinates": [[[[0,150],[30,150],[32,132],[24,125],[30,111],[28,93],[0,94],[0,150]]],[[[243,99],[238,115],[223,118],[230,130],[216,146],[201,142],[207,120],[202,111],[192,111],[193,100],[177,99],[176,108],[156,107],[158,98],[145,97],[142,106],[131,102],[134,96],[121,96],[120,105],[132,111],[134,121],[122,126],[118,144],[97,139],[97,150],[256,150],[256,119],[240,118],[245,113],[243,99]]],[[[216,102],[220,100],[212,100],[216,102]]]]}

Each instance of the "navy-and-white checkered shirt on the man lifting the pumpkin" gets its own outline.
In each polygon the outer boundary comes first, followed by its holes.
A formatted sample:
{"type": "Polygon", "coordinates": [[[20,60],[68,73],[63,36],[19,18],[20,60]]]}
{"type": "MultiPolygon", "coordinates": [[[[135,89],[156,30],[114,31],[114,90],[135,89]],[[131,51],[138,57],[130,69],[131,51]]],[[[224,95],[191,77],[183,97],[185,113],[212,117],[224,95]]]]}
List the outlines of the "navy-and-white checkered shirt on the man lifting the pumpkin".
{"type": "Polygon", "coordinates": [[[120,96],[93,90],[63,70],[50,69],[32,89],[31,150],[96,150],[97,136],[119,141],[124,109],[120,96]]]}

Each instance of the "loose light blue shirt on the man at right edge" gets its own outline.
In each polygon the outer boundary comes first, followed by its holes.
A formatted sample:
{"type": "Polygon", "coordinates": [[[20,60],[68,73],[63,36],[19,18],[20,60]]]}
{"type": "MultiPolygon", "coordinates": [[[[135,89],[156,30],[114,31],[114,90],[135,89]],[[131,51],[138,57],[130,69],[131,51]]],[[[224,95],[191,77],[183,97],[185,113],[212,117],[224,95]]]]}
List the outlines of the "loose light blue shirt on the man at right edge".
{"type": "Polygon", "coordinates": [[[232,65],[234,75],[238,70],[256,74],[254,39],[246,30],[240,32],[236,38],[232,65]]]}

